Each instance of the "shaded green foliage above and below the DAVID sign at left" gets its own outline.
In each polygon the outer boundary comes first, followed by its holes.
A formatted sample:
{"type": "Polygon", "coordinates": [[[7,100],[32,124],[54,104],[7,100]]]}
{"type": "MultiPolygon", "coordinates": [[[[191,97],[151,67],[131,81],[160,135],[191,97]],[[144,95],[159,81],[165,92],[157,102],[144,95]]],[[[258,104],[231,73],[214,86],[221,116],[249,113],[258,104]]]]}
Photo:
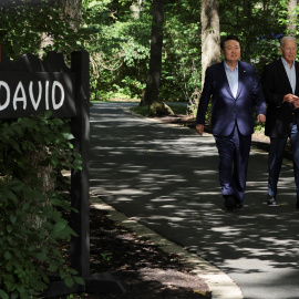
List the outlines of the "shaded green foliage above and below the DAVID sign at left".
{"type": "MultiPolygon", "coordinates": [[[[43,56],[49,50],[68,53],[68,59],[81,50],[94,29],[74,31],[78,20],[63,16],[54,2],[1,2],[1,50],[12,59],[23,53],[43,56]],[[43,43],[43,37],[51,43],[43,43]]],[[[70,122],[50,120],[49,113],[1,121],[0,138],[0,298],[37,298],[52,276],[66,286],[82,283],[58,250],[74,236],[65,219],[70,183],[62,172],[82,167],[70,122]],[[54,188],[44,186],[44,174],[54,188]]]]}

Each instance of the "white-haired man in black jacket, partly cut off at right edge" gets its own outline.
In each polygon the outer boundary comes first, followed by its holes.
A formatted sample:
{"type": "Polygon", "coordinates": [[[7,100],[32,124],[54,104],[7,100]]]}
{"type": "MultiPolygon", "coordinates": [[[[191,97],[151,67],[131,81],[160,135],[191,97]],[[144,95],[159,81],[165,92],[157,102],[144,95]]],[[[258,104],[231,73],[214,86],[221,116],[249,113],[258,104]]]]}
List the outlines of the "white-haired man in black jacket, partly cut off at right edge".
{"type": "Polygon", "coordinates": [[[268,156],[269,206],[276,206],[277,183],[283,151],[290,137],[293,158],[293,174],[297,186],[297,208],[299,208],[299,63],[295,61],[297,42],[292,37],[280,41],[281,58],[265,66],[261,84],[267,107],[265,134],[270,137],[268,156]]]}

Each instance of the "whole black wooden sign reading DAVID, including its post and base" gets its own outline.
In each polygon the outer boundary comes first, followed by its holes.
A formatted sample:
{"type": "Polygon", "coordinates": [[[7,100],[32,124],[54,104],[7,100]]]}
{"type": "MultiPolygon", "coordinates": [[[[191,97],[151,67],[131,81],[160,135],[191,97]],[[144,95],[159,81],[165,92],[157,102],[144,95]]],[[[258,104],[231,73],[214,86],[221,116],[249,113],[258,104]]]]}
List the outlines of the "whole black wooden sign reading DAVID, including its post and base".
{"type": "Polygon", "coordinates": [[[44,61],[25,54],[13,62],[0,53],[0,118],[17,118],[52,111],[53,117],[70,117],[74,148],[82,157],[82,171],[71,173],[71,227],[78,237],[71,241],[71,266],[85,285],[68,288],[53,281],[45,298],[74,292],[123,293],[123,286],[111,274],[90,272],[90,76],[89,53],[73,52],[71,70],[62,54],[50,52],[44,61]],[[3,92],[4,91],[4,92],[3,92]]]}

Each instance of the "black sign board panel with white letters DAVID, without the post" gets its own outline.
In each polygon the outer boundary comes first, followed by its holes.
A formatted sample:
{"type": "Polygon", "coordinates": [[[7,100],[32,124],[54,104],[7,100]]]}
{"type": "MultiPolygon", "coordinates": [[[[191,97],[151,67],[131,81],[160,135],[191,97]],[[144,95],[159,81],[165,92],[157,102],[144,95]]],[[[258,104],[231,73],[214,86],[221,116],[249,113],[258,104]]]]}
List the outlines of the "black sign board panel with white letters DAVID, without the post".
{"type": "Polygon", "coordinates": [[[0,72],[0,118],[52,111],[53,117],[75,116],[72,73],[0,72]]]}

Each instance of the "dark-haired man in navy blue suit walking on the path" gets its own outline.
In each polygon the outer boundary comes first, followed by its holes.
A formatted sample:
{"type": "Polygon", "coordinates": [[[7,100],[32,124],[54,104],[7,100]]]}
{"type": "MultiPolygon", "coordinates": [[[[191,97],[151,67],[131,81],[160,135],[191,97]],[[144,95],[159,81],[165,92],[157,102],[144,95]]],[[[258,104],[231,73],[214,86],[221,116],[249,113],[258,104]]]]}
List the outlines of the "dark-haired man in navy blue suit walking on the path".
{"type": "Polygon", "coordinates": [[[254,133],[254,110],[257,121],[266,120],[266,103],[255,68],[240,59],[240,43],[229,35],[221,42],[225,60],[206,70],[198,104],[196,131],[204,133],[205,115],[210,96],[212,128],[219,153],[219,183],[227,209],[243,206],[247,166],[254,133]]]}

